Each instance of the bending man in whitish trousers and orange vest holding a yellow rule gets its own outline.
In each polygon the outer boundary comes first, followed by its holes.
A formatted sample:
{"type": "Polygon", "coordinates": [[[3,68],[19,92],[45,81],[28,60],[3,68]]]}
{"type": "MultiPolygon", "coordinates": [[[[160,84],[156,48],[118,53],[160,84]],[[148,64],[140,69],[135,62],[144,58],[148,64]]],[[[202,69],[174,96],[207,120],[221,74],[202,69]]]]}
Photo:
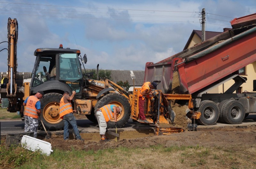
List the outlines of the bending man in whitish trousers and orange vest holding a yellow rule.
{"type": "Polygon", "coordinates": [[[116,106],[113,104],[107,104],[101,107],[100,109],[98,109],[96,113],[96,117],[100,127],[100,136],[101,136],[100,141],[105,141],[105,142],[110,141],[105,136],[105,133],[107,131],[107,123],[111,118],[114,117],[115,127],[117,128],[118,127],[117,120],[116,120],[117,113],[121,113],[121,112],[122,112],[122,108],[120,106],[116,106]]]}

